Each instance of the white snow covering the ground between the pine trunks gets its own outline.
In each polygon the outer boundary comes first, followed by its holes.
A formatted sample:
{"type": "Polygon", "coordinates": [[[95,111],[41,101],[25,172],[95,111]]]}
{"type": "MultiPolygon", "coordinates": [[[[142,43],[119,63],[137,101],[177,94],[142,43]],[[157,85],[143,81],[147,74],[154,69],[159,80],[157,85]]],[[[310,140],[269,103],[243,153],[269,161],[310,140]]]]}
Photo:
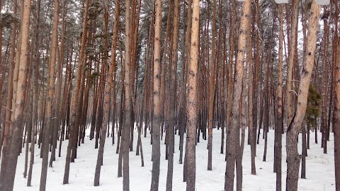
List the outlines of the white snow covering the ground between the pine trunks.
{"type": "MultiPolygon", "coordinates": [[[[261,131],[262,133],[262,131],[261,131]]],[[[165,135],[165,134],[164,134],[165,135]]],[[[116,136],[116,135],[115,135],[116,136]]],[[[117,138],[117,137],[115,137],[117,138]]],[[[300,137],[301,138],[301,135],[300,137]]],[[[310,134],[310,149],[307,151],[306,178],[298,181],[299,190],[315,191],[332,191],[335,190],[334,180],[334,138],[331,134],[328,142],[328,154],[323,154],[321,149],[321,134],[318,134],[319,144],[314,143],[314,132],[310,134]]],[[[247,139],[247,137],[246,137],[247,139]]],[[[115,139],[116,141],[117,139],[115,139]]],[[[299,139],[301,140],[301,139],[299,139]]],[[[152,146],[150,145],[150,135],[144,138],[142,135],[142,146],[145,158],[145,166],[141,167],[140,156],[136,156],[135,147],[137,143],[137,132],[134,137],[134,151],[130,152],[130,190],[147,191],[151,185],[152,171],[152,146]]],[[[257,145],[256,156],[256,173],[251,175],[250,146],[245,144],[243,157],[243,190],[251,191],[273,191],[276,187],[276,174],[273,173],[273,141],[274,131],[268,133],[268,151],[266,162],[263,162],[263,144],[261,138],[257,145]]],[[[81,144],[78,149],[75,163],[71,163],[69,184],[62,185],[64,175],[64,163],[67,151],[67,141],[62,143],[62,157],[57,157],[52,168],[47,172],[47,189],[54,190],[123,190],[123,178],[117,178],[118,171],[118,154],[115,154],[116,144],[112,145],[112,138],[106,138],[106,146],[103,158],[103,167],[101,168],[101,180],[98,187],[94,187],[94,171],[98,149],[94,149],[95,141],[89,140],[86,135],[85,144],[81,144]]],[[[225,154],[220,154],[221,130],[213,129],[212,144],[212,170],[207,170],[208,165],[208,139],[200,139],[196,147],[196,190],[198,191],[220,191],[225,184],[225,154]]],[[[159,190],[166,188],[166,171],[167,161],[165,160],[164,140],[161,142],[161,168],[159,178],[159,190]]],[[[59,146],[59,144],[58,144],[59,146]]],[[[174,181],[173,190],[186,190],[186,183],[183,183],[183,164],[179,164],[179,136],[175,135],[175,154],[174,154],[174,181]]],[[[23,149],[23,151],[25,151],[23,149]]],[[[301,153],[301,141],[299,141],[299,151],[301,153]]],[[[14,190],[39,190],[41,158],[39,158],[40,149],[35,147],[35,164],[33,166],[32,187],[26,187],[27,179],[23,178],[23,169],[25,164],[25,154],[18,158],[16,168],[16,180],[14,190]]],[[[285,134],[283,135],[283,166],[282,166],[282,185],[285,190],[285,134]]],[[[299,175],[300,176],[300,175],[299,175]]],[[[235,183],[236,187],[236,176],[235,183]]]]}

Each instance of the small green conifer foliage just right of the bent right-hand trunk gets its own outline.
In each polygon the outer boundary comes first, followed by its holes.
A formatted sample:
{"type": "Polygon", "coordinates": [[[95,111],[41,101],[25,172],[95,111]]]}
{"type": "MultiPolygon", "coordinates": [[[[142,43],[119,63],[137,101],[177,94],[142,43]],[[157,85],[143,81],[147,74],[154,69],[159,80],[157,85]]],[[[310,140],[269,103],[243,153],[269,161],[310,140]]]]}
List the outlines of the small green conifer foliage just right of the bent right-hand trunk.
{"type": "Polygon", "coordinates": [[[310,88],[308,89],[307,109],[305,115],[306,122],[314,124],[317,121],[317,117],[320,115],[320,100],[320,94],[314,86],[310,85],[310,88]]]}

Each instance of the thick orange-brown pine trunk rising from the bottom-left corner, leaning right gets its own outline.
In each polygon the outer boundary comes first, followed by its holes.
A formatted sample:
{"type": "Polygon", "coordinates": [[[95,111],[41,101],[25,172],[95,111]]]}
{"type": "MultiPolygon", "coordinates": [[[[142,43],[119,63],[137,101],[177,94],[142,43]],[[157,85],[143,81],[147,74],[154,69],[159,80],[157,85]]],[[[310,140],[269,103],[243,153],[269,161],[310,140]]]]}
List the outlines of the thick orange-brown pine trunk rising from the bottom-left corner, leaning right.
{"type": "Polygon", "coordinates": [[[28,61],[28,46],[29,46],[29,34],[30,34],[30,0],[23,1],[22,6],[23,14],[21,18],[21,49],[20,59],[16,62],[20,63],[18,68],[18,88],[16,89],[16,102],[13,105],[15,108],[12,112],[13,118],[11,118],[11,127],[9,129],[6,141],[7,148],[4,148],[1,158],[1,175],[0,175],[0,190],[10,191],[13,190],[14,178],[16,175],[16,164],[18,161],[18,148],[21,147],[21,135],[23,132],[23,108],[25,102],[26,91],[26,69],[28,61]]]}

